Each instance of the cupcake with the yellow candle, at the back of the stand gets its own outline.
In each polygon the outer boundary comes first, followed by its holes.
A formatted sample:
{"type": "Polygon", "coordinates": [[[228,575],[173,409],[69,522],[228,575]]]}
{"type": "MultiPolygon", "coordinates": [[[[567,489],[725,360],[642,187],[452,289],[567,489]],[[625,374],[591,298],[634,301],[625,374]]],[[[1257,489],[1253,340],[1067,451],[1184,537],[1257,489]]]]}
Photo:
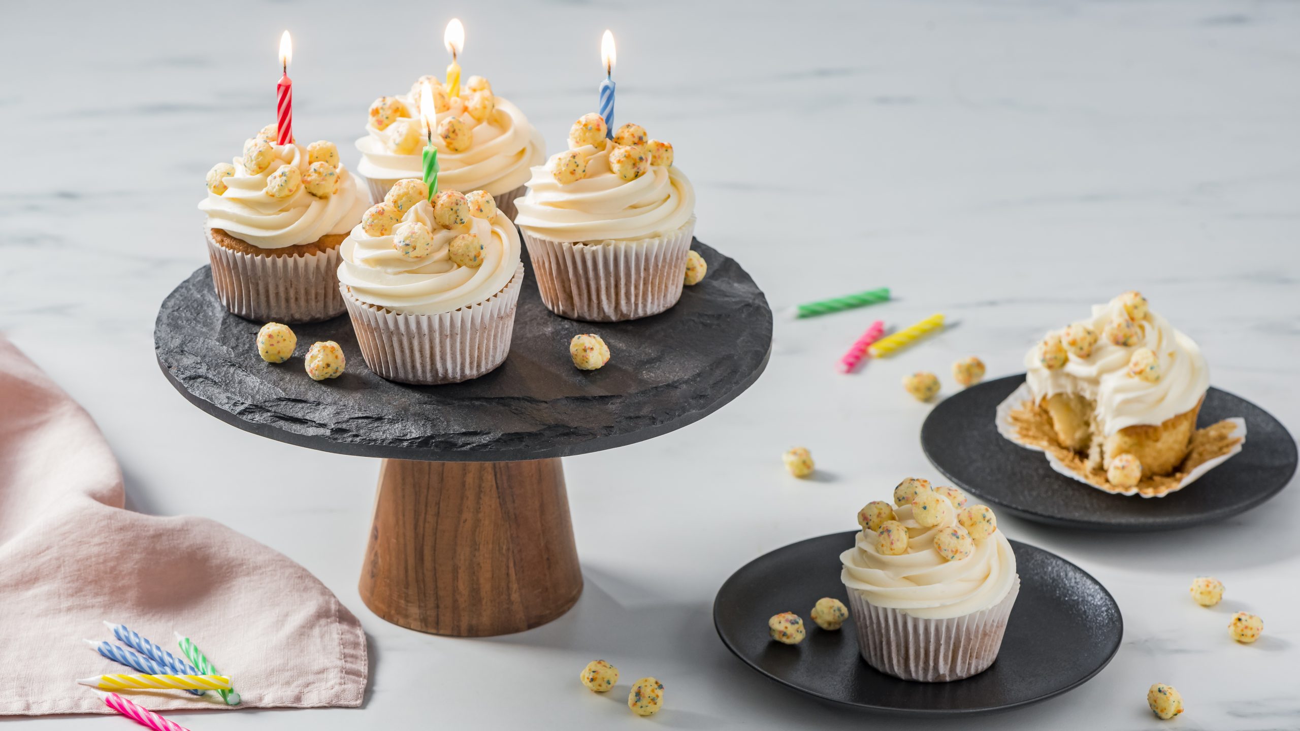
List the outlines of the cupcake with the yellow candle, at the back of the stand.
{"type": "Polygon", "coordinates": [[[524,193],[529,168],[546,159],[542,135],[506,99],[494,96],[482,77],[469,77],[456,96],[448,96],[437,77],[416,79],[411,91],[381,96],[370,104],[358,172],[369,181],[373,200],[384,200],[399,179],[424,172],[420,99],[428,85],[437,109],[433,146],[438,150],[438,190],[482,190],[506,217],[515,217],[515,199],[524,193]]]}

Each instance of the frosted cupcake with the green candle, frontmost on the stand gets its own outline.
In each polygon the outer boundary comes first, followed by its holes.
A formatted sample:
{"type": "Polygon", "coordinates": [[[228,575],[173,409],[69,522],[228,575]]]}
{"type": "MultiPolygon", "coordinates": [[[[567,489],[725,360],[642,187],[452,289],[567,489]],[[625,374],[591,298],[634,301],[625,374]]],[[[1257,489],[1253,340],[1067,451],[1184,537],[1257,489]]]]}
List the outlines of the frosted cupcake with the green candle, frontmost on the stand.
{"type": "Polygon", "coordinates": [[[491,195],[398,181],[342,246],[339,290],[361,355],[390,381],[452,384],[510,352],[519,234],[491,195]]]}

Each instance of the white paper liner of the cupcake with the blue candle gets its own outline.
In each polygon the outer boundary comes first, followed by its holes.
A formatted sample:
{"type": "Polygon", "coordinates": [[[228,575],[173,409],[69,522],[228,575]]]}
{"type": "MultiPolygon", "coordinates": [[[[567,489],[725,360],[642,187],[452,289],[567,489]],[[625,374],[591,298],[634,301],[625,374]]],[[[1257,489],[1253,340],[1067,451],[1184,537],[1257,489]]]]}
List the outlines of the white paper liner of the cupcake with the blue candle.
{"type": "Polygon", "coordinates": [[[681,298],[696,217],[668,235],[571,243],[533,235],[524,243],[546,308],[571,320],[649,317],[681,298]]]}

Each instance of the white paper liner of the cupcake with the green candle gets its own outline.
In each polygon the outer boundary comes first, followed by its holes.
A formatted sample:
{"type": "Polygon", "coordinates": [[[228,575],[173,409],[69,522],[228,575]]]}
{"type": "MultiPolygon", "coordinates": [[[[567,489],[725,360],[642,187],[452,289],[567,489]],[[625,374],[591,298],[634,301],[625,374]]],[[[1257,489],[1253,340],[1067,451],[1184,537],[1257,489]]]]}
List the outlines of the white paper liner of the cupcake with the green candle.
{"type": "Polygon", "coordinates": [[[358,299],[338,285],[361,356],[380,377],[403,384],[455,384],[477,379],[510,352],[524,264],[484,302],[441,315],[398,315],[358,299]]]}

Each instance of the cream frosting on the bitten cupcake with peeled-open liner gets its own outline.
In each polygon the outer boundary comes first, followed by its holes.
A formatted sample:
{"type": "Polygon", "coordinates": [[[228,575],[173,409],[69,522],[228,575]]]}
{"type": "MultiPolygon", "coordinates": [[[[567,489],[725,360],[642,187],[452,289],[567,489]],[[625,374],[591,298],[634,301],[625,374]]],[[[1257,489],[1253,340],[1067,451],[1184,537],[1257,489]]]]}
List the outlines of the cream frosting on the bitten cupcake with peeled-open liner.
{"type": "Polygon", "coordinates": [[[1088,358],[1071,354],[1063,368],[1045,368],[1039,362],[1037,346],[1031,347],[1024,355],[1024,367],[1034,399],[1067,393],[1095,401],[1105,436],[1135,424],[1161,424],[1192,410],[1210,385],[1201,349],[1156,312],[1148,312],[1147,319],[1138,323],[1141,328],[1139,342],[1113,345],[1102,333],[1108,323],[1123,315],[1118,297],[1106,304],[1093,304],[1092,317],[1080,323],[1097,332],[1097,345],[1088,358]],[[1128,360],[1140,347],[1150,349],[1160,360],[1161,377],[1154,384],[1128,376],[1128,360]]]}

